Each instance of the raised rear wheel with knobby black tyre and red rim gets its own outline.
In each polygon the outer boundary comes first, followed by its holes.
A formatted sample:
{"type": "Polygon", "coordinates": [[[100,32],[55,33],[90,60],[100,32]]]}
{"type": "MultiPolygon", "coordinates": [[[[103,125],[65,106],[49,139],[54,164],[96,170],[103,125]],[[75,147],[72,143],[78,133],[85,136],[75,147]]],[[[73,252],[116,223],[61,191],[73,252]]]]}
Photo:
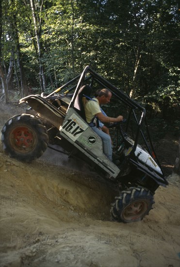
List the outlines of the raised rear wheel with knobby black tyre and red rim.
{"type": "Polygon", "coordinates": [[[1,132],[4,150],[19,160],[39,158],[48,147],[47,129],[32,115],[11,117],[5,122],[1,132]]]}

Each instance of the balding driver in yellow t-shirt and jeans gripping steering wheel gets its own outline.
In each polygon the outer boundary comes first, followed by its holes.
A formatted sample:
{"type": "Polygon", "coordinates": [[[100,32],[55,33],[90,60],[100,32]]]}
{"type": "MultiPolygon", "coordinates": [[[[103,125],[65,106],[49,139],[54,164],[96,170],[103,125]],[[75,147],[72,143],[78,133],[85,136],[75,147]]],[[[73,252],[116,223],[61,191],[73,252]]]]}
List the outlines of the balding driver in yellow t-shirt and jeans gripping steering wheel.
{"type": "Polygon", "coordinates": [[[84,107],[86,121],[90,127],[92,127],[93,131],[95,131],[102,139],[103,142],[103,152],[108,157],[109,160],[112,161],[112,145],[111,145],[111,137],[110,135],[102,132],[99,128],[97,128],[96,123],[94,122],[95,118],[102,122],[119,122],[123,120],[123,116],[108,117],[103,115],[100,109],[100,105],[107,104],[110,102],[112,98],[112,93],[108,89],[102,89],[98,93],[97,98],[93,98],[89,100],[84,107]]]}

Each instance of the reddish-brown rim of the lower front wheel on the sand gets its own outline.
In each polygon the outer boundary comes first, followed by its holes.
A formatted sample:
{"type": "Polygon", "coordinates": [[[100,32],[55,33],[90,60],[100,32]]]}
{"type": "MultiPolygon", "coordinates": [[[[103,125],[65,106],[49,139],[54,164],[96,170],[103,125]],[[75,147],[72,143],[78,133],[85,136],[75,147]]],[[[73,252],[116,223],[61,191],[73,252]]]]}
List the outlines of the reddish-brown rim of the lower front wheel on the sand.
{"type": "Polygon", "coordinates": [[[145,201],[136,201],[128,205],[123,212],[123,217],[126,220],[135,220],[142,217],[147,211],[147,203],[145,201]]]}

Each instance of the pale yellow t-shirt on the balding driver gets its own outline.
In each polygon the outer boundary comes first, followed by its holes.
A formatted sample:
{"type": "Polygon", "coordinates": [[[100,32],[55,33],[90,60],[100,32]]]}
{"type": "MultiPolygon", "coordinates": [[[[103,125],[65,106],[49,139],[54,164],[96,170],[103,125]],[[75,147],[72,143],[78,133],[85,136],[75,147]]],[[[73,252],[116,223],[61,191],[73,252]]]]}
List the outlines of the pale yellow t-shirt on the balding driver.
{"type": "Polygon", "coordinates": [[[95,115],[101,112],[98,99],[94,98],[93,100],[87,101],[84,110],[87,123],[92,122],[95,115]]]}

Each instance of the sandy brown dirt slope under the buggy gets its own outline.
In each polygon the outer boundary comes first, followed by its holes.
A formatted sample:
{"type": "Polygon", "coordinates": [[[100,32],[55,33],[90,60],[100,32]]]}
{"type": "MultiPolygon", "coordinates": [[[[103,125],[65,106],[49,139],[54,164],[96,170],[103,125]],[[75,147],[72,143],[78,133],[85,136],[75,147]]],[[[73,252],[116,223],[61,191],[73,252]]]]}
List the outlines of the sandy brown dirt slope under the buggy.
{"type": "Polygon", "coordinates": [[[53,165],[49,153],[28,164],[0,149],[0,266],[180,266],[179,176],[157,189],[149,216],[117,223],[114,186],[66,156],[53,165]]]}

